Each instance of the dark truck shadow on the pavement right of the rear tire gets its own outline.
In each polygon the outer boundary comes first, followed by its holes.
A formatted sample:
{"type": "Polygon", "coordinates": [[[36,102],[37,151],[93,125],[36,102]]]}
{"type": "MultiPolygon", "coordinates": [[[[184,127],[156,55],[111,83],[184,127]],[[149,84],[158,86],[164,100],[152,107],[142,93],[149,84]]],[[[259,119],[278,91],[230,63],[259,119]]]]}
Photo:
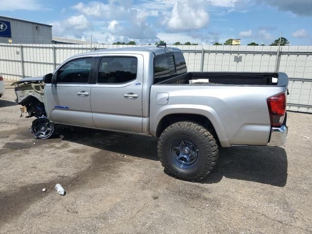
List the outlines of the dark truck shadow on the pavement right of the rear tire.
{"type": "Polygon", "coordinates": [[[287,182],[287,168],[286,151],[280,147],[221,148],[215,169],[200,182],[218,183],[224,176],[284,187],[287,182]]]}

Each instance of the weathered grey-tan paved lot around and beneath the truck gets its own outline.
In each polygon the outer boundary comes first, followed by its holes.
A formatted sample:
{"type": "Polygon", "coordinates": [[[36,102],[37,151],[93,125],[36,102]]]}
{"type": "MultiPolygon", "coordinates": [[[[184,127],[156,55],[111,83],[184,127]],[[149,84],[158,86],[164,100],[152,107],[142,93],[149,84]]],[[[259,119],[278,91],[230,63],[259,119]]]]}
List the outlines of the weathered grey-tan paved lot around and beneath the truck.
{"type": "Polygon", "coordinates": [[[221,149],[191,183],[163,173],[156,138],[35,139],[14,99],[0,98],[0,233],[312,233],[312,115],[289,113],[284,148],[221,149]]]}

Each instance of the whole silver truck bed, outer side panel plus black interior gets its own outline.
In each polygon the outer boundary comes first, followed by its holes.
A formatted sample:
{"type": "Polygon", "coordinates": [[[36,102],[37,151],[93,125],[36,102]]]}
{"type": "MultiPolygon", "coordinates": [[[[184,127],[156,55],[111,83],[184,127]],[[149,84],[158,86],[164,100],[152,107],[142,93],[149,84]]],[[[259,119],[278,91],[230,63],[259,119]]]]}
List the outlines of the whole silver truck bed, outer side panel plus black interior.
{"type": "Polygon", "coordinates": [[[215,129],[222,147],[266,145],[271,129],[266,100],[286,93],[287,84],[285,73],[184,73],[152,85],[150,122],[157,122],[162,110],[197,115],[207,110],[213,126],[224,129],[215,129]],[[189,84],[190,79],[198,78],[212,84],[189,84]]]}

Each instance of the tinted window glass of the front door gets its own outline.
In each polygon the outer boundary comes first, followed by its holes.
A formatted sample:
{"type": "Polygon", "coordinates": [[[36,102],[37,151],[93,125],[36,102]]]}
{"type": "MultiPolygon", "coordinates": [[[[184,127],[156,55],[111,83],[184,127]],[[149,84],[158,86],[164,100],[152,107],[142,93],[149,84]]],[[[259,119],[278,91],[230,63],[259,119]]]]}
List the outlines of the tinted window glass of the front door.
{"type": "Polygon", "coordinates": [[[57,74],[58,83],[88,83],[93,58],[75,59],[62,66],[57,74]]]}

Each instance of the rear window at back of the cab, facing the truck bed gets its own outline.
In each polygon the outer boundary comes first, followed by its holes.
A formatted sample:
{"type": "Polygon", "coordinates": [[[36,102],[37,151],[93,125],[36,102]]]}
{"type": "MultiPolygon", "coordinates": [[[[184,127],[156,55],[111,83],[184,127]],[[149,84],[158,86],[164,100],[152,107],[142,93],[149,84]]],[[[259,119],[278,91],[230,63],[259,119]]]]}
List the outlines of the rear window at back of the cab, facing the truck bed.
{"type": "Polygon", "coordinates": [[[182,53],[158,55],[154,61],[154,83],[186,71],[186,63],[182,53]]]}

